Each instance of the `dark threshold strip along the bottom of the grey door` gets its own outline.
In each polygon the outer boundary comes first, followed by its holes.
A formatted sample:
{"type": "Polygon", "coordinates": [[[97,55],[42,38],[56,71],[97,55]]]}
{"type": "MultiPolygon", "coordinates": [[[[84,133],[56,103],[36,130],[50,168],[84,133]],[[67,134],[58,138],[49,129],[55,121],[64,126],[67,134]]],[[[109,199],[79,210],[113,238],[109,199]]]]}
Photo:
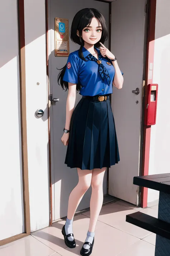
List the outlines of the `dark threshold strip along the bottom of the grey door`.
{"type": "MultiPolygon", "coordinates": [[[[110,196],[110,195],[108,195],[108,194],[105,194],[105,195],[103,196],[103,205],[102,205],[102,206],[104,206],[104,205],[109,205],[110,203],[114,203],[114,202],[117,202],[117,201],[119,201],[119,200],[121,200],[121,199],[119,199],[119,198],[117,198],[117,197],[110,196]]],[[[77,211],[77,212],[75,212],[75,215],[74,215],[74,216],[77,216],[77,215],[82,214],[82,213],[84,213],[84,212],[88,212],[89,210],[90,210],[90,207],[85,208],[85,209],[80,210],[80,211],[77,211]]],[[[62,221],[62,220],[66,220],[66,218],[67,218],[67,216],[62,217],[61,219],[58,219],[58,220],[53,220],[52,223],[56,223],[56,222],[60,222],[60,221],[62,221]]]]}

